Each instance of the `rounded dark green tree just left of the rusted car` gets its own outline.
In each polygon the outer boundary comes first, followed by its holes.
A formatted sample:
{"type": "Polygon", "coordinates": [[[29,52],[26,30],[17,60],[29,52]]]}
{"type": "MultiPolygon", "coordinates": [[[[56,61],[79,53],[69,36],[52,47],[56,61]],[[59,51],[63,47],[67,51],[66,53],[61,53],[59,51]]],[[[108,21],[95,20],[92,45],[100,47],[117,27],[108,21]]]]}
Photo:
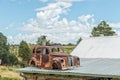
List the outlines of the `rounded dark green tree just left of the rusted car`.
{"type": "Polygon", "coordinates": [[[31,50],[26,43],[26,41],[21,41],[19,50],[18,50],[19,57],[22,59],[22,62],[27,62],[31,57],[31,50]]]}

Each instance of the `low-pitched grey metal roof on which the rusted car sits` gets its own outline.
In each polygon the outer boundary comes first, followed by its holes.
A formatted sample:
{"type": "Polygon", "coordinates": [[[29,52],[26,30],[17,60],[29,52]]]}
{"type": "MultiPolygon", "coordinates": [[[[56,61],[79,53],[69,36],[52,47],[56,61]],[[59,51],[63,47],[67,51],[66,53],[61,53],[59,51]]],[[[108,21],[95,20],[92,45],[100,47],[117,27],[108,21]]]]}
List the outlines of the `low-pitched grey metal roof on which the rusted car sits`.
{"type": "Polygon", "coordinates": [[[81,66],[73,67],[70,70],[46,70],[37,67],[26,67],[17,69],[17,71],[23,73],[120,78],[120,59],[83,58],[81,59],[81,66]]]}

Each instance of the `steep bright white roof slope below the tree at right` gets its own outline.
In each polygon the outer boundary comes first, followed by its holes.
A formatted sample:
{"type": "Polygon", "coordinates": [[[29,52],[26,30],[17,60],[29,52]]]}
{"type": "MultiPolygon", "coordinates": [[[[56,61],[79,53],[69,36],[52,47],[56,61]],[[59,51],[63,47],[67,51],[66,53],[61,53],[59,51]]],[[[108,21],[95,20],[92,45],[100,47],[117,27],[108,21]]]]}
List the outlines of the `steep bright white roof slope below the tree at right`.
{"type": "Polygon", "coordinates": [[[120,37],[91,37],[84,39],[71,53],[80,58],[120,58],[120,37]]]}

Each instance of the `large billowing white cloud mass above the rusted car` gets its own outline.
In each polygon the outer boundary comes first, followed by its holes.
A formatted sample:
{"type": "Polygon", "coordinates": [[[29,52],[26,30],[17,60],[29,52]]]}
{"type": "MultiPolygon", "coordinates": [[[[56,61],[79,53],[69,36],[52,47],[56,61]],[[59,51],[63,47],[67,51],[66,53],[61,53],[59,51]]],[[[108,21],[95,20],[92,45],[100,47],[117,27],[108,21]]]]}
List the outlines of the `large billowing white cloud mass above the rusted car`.
{"type": "Polygon", "coordinates": [[[58,1],[46,7],[37,8],[36,19],[30,19],[21,28],[29,34],[9,36],[8,39],[15,43],[21,40],[35,43],[36,39],[44,34],[52,42],[75,43],[80,37],[88,37],[94,26],[94,15],[82,15],[77,20],[71,21],[65,17],[62,18],[61,15],[66,15],[71,6],[71,2],[58,1]]]}

